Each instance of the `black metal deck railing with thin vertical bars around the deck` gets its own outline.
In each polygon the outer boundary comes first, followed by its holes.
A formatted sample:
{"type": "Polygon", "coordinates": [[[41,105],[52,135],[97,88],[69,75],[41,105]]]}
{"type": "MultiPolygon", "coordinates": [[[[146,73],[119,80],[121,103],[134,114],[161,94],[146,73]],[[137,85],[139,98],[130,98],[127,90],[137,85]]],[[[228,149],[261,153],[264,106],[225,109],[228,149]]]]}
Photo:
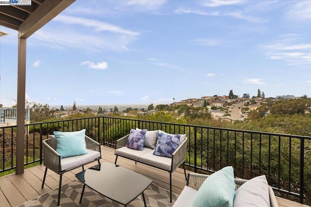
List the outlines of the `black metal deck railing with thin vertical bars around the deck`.
{"type": "MultiPolygon", "coordinates": [[[[131,128],[187,134],[186,167],[213,173],[233,166],[236,177],[266,175],[277,196],[311,204],[311,137],[97,116],[26,125],[25,165],[42,163],[42,140],[53,131],[86,128],[86,135],[115,147],[131,128]]],[[[0,127],[0,173],[15,169],[16,126],[0,127]]]]}

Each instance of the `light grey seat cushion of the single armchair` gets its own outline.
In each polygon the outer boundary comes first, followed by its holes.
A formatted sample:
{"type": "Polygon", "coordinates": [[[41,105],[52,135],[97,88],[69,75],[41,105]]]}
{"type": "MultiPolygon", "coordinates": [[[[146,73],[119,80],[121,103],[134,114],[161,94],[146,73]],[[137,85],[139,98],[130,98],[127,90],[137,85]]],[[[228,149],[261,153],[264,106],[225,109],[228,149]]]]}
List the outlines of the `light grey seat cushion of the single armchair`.
{"type": "Polygon", "coordinates": [[[90,162],[94,159],[101,157],[100,152],[90,150],[90,149],[86,149],[86,151],[87,151],[87,154],[85,155],[78,155],[78,156],[72,156],[72,157],[61,159],[60,160],[61,171],[68,170],[72,167],[81,166],[87,162],[90,162]]]}

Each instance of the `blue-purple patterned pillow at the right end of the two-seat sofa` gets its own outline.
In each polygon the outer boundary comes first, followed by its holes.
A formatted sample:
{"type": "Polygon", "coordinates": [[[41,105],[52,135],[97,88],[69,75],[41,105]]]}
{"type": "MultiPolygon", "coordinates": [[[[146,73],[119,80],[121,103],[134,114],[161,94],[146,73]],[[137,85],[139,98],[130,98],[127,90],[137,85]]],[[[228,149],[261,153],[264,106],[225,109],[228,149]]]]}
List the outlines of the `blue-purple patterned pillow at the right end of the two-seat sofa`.
{"type": "Polygon", "coordinates": [[[158,143],[156,144],[154,155],[172,158],[173,152],[177,149],[181,134],[168,134],[159,130],[157,134],[158,143]]]}

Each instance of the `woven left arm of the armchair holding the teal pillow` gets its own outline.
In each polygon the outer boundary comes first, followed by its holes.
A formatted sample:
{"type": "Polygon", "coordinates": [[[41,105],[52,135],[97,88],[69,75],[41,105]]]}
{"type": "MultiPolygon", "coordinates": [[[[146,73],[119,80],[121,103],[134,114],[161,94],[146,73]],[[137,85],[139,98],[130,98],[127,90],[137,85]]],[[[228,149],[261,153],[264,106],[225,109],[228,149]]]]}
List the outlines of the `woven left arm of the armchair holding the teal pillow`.
{"type": "Polygon", "coordinates": [[[60,154],[58,154],[48,143],[51,143],[50,139],[43,140],[42,142],[44,166],[53,172],[60,174],[60,154]]]}

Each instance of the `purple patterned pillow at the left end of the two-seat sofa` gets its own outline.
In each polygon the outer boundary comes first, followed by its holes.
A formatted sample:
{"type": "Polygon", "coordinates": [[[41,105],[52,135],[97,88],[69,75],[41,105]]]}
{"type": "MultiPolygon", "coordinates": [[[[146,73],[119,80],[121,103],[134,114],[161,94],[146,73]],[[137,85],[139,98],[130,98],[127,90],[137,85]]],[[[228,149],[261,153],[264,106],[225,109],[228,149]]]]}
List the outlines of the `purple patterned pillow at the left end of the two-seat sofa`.
{"type": "Polygon", "coordinates": [[[130,136],[127,139],[126,147],[131,149],[142,150],[145,142],[145,135],[147,129],[142,129],[140,131],[131,129],[130,136]]]}

